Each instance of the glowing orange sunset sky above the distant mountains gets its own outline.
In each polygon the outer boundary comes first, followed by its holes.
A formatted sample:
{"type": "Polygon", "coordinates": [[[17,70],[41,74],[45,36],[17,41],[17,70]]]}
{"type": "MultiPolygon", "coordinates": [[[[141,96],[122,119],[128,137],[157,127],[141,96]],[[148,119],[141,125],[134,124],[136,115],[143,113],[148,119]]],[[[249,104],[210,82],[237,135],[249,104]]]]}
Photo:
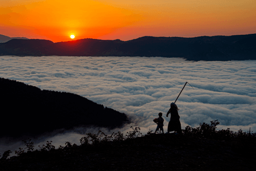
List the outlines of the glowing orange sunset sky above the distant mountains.
{"type": "Polygon", "coordinates": [[[256,0],[1,0],[0,34],[48,39],[256,33],[256,0]]]}

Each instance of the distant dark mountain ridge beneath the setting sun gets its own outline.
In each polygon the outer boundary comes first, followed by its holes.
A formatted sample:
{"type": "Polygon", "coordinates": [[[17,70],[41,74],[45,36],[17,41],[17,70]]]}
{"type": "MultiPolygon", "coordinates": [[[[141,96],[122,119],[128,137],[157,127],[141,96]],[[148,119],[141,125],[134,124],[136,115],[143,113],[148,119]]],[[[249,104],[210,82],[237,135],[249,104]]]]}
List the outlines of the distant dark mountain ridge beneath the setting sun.
{"type": "Polygon", "coordinates": [[[17,56],[161,56],[187,60],[255,60],[256,34],[234,36],[151,37],[129,41],[79,39],[52,42],[12,39],[0,44],[0,55],[17,56]]]}

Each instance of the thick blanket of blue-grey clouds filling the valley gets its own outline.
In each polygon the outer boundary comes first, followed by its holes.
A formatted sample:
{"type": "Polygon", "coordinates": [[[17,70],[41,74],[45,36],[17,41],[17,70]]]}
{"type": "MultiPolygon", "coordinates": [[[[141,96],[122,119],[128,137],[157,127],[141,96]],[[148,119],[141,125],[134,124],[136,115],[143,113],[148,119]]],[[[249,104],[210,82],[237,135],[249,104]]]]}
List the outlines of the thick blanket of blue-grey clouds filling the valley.
{"type": "MultiPolygon", "coordinates": [[[[50,136],[55,145],[80,144],[82,135],[155,130],[154,118],[163,113],[164,131],[170,103],[177,100],[181,127],[219,120],[218,130],[256,131],[256,61],[186,61],[163,57],[16,57],[0,56],[0,77],[36,86],[41,90],[71,92],[127,114],[134,123],[122,129],[76,128],[50,136]]],[[[36,114],[35,114],[36,115],[36,114]]],[[[42,144],[45,138],[34,140],[42,144]]],[[[1,140],[3,144],[4,140],[1,140]]],[[[17,148],[21,142],[12,144],[17,148]]],[[[0,146],[3,149],[4,145],[0,146]]],[[[10,144],[9,146],[10,147],[10,144]]],[[[1,153],[1,152],[0,152],[1,153]]],[[[3,154],[3,153],[2,153],[3,154]]]]}

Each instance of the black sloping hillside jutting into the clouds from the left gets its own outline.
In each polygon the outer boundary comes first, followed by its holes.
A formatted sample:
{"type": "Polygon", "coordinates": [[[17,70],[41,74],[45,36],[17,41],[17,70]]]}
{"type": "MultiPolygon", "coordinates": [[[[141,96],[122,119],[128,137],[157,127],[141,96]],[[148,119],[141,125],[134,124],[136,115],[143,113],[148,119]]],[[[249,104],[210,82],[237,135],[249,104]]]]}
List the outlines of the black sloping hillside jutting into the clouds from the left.
{"type": "Polygon", "coordinates": [[[72,93],[40,90],[23,82],[0,78],[0,138],[39,136],[78,126],[113,129],[129,123],[124,113],[104,108],[72,93]]]}

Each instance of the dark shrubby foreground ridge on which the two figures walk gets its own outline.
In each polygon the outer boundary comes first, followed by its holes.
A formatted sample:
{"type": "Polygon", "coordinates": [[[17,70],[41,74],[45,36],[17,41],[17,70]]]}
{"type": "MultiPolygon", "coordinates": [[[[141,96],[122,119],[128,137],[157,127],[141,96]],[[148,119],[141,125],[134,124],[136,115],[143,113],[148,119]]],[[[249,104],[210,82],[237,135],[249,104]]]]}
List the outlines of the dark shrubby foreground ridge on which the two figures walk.
{"type": "Polygon", "coordinates": [[[87,134],[81,145],[67,142],[55,149],[47,142],[39,151],[27,143],[30,152],[20,149],[18,157],[10,159],[6,159],[10,151],[2,154],[0,170],[255,170],[255,135],[217,132],[206,125],[193,131],[188,127],[183,135],[148,133],[142,137],[135,128],[126,138],[114,134],[111,141],[102,133],[87,134]]]}

